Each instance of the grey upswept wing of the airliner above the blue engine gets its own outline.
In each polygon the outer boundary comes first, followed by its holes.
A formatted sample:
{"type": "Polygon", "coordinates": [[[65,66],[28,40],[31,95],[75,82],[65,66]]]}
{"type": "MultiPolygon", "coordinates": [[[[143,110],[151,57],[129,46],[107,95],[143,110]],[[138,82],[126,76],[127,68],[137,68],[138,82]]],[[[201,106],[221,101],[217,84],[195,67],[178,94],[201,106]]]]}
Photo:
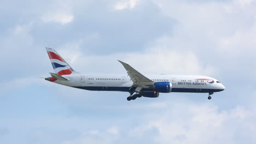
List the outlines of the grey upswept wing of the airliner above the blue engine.
{"type": "Polygon", "coordinates": [[[119,61],[127,71],[127,74],[131,77],[133,82],[132,87],[136,87],[135,91],[139,92],[142,88],[149,88],[153,86],[154,81],[148,79],[148,77],[142,75],[137,70],[133,69],[129,64],[119,61]]]}

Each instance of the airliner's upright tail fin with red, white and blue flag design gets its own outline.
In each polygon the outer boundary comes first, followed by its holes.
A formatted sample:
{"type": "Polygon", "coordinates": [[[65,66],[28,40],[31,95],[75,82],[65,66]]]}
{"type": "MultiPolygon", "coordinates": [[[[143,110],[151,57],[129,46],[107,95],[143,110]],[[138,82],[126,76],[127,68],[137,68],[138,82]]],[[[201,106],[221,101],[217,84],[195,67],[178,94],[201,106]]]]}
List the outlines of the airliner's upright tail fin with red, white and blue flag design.
{"type": "Polygon", "coordinates": [[[70,65],[57,53],[54,49],[45,47],[48,56],[53,65],[54,71],[58,75],[70,75],[74,74],[75,71],[70,67],[70,65]]]}

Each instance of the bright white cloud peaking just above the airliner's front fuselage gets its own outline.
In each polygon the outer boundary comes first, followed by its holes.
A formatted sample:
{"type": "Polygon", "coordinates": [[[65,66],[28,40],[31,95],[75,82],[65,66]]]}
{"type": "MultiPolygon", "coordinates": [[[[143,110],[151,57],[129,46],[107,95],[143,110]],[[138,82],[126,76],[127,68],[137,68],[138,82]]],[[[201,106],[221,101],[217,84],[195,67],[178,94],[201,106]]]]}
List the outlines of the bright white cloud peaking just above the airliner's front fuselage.
{"type": "Polygon", "coordinates": [[[171,38],[160,38],[144,53],[129,53],[124,61],[139,67],[147,74],[194,74],[211,75],[217,73],[211,65],[200,61],[193,51],[178,51],[166,41],[171,38]]]}

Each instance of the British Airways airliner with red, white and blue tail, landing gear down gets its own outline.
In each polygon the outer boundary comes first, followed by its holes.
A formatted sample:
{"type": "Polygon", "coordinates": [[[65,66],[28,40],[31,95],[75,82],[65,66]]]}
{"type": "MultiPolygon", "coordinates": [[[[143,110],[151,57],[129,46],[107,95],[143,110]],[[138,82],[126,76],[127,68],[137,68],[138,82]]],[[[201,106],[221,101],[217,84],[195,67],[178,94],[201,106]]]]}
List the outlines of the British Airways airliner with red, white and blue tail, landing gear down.
{"type": "Polygon", "coordinates": [[[129,92],[127,100],[147,97],[157,98],[160,93],[208,93],[224,91],[220,81],[200,75],[142,75],[129,64],[119,61],[127,74],[80,74],[77,73],[54,49],[45,47],[55,73],[45,80],[60,85],[89,91],[129,92]]]}

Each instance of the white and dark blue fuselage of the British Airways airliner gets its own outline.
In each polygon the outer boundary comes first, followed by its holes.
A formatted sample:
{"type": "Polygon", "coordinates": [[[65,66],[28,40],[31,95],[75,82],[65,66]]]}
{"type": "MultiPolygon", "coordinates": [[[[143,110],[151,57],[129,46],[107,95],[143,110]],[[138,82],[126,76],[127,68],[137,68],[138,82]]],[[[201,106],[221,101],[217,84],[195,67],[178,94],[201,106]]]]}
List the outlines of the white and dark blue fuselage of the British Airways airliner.
{"type": "MultiPolygon", "coordinates": [[[[90,91],[130,92],[132,80],[127,75],[107,74],[72,74],[62,75],[68,81],[56,80],[55,83],[90,91]]],[[[208,76],[197,75],[145,75],[154,82],[170,82],[171,92],[213,93],[225,87],[218,80],[208,76]]],[[[152,88],[143,91],[155,91],[152,88]]]]}

